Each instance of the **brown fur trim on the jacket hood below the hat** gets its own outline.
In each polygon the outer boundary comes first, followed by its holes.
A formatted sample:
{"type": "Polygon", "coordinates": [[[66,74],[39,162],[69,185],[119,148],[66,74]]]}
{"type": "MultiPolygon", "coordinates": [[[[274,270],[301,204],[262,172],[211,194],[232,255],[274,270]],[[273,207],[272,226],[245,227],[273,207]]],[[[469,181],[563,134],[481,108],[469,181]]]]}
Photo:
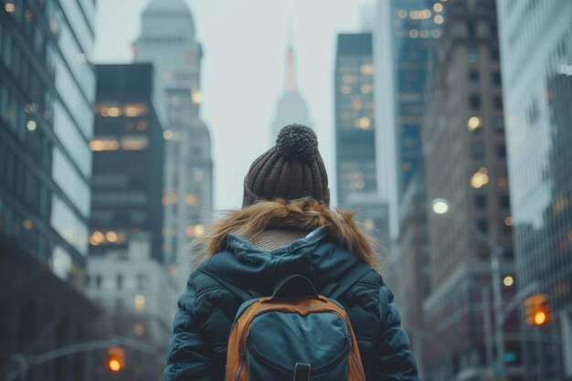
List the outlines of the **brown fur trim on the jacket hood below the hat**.
{"type": "Polygon", "coordinates": [[[302,231],[324,228],[328,238],[377,268],[379,258],[374,240],[358,227],[354,217],[355,213],[334,211],[310,197],[261,201],[214,224],[207,232],[205,255],[209,258],[227,250],[228,239],[233,236],[248,241],[271,228],[302,231]]]}

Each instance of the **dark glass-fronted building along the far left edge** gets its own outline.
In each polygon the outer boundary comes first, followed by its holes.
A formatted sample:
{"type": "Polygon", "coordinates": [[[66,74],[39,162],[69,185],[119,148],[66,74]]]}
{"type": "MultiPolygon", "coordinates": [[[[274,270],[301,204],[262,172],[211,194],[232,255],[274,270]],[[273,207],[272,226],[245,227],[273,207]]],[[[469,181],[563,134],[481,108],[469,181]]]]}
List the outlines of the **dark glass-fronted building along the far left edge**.
{"type": "MultiPolygon", "coordinates": [[[[94,2],[0,1],[0,369],[76,380],[90,340],[88,254],[94,2]],[[15,363],[15,359],[18,359],[15,363]]],[[[14,373],[16,372],[16,374],[14,373]]]]}

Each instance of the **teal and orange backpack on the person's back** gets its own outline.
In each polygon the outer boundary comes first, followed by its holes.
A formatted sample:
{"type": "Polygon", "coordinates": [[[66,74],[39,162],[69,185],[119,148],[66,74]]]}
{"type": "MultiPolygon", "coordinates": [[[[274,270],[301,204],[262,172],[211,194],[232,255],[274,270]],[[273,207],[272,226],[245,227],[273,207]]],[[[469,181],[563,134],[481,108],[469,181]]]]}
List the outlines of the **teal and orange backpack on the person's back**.
{"type": "Polygon", "coordinates": [[[266,297],[207,274],[246,301],[230,330],[226,381],[365,381],[352,324],[335,298],[371,270],[360,263],[320,294],[291,275],[266,297]]]}

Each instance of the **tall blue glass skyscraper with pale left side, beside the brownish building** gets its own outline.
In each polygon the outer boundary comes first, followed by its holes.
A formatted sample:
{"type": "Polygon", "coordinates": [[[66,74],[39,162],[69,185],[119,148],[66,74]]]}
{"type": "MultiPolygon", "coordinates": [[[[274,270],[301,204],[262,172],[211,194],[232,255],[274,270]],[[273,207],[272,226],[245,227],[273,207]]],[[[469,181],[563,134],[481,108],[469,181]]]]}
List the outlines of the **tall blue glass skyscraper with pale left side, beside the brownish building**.
{"type": "MultiPolygon", "coordinates": [[[[444,21],[446,3],[427,0],[379,0],[376,9],[376,110],[379,110],[378,136],[386,145],[379,153],[395,147],[395,165],[381,175],[393,191],[387,192],[397,220],[399,277],[394,291],[409,329],[413,350],[417,351],[416,330],[422,328],[422,303],[429,292],[429,248],[425,176],[421,147],[425,79],[429,55],[444,21]],[[387,35],[387,36],[386,36],[387,35]],[[395,141],[395,144],[393,142],[395,141]],[[396,180],[393,180],[396,179],[396,180]]],[[[395,222],[394,222],[395,224],[395,222]]],[[[397,250],[396,250],[397,251],[397,250]]],[[[392,253],[393,254],[393,253],[392,253]]]]}

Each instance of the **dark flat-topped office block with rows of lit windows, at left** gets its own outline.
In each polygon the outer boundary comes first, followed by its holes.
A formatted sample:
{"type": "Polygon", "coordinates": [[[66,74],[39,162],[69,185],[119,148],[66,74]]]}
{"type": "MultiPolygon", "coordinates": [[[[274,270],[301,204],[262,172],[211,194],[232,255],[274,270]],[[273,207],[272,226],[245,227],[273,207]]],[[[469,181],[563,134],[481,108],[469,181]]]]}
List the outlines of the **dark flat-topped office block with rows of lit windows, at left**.
{"type": "Polygon", "coordinates": [[[132,239],[163,262],[164,111],[151,64],[98,65],[91,178],[90,255],[121,259],[132,239]]]}

